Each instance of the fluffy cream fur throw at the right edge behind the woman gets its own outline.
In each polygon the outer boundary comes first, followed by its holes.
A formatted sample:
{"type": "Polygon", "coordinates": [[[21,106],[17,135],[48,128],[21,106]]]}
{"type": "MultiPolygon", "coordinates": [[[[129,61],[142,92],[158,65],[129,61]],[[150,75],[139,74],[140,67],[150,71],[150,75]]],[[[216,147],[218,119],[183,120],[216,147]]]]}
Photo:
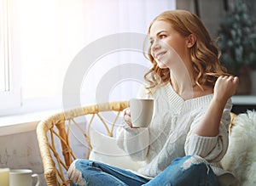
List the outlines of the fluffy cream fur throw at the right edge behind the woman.
{"type": "Polygon", "coordinates": [[[241,186],[256,185],[256,111],[236,116],[230,131],[230,144],[221,161],[225,170],[233,172],[241,186]]]}

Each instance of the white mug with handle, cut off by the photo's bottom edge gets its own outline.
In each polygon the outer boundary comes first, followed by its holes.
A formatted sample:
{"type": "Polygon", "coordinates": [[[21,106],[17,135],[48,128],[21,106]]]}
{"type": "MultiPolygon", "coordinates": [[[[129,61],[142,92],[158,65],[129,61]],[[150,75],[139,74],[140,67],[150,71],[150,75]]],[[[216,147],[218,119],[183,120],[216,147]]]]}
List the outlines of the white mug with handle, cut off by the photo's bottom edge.
{"type": "Polygon", "coordinates": [[[37,178],[36,186],[40,184],[38,174],[33,174],[30,169],[15,169],[9,172],[9,186],[32,186],[32,179],[37,178]]]}

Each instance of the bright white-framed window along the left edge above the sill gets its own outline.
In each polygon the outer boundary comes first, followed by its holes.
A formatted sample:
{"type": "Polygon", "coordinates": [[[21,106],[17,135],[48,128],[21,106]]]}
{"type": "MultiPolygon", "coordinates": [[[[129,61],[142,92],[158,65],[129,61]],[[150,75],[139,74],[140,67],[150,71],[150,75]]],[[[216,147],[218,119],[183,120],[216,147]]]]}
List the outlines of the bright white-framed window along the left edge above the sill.
{"type": "Polygon", "coordinates": [[[15,61],[11,59],[10,36],[10,3],[2,0],[0,3],[0,109],[6,110],[20,106],[20,88],[15,74],[15,61]]]}

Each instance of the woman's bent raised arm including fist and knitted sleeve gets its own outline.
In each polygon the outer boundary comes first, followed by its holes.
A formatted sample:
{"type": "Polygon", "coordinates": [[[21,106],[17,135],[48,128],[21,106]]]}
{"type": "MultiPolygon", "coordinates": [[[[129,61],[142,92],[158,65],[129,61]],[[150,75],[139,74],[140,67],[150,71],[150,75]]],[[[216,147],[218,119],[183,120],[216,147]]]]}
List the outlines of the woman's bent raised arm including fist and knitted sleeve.
{"type": "Polygon", "coordinates": [[[196,116],[186,138],[186,155],[200,155],[207,161],[220,161],[228,148],[230,97],[238,78],[220,76],[215,84],[212,102],[196,116]]]}

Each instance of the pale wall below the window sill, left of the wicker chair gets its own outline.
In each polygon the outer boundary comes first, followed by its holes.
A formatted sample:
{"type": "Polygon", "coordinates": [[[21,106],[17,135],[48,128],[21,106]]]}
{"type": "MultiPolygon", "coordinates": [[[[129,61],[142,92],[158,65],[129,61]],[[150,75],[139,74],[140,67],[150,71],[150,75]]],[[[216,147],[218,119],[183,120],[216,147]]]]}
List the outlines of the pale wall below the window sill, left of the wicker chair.
{"type": "Polygon", "coordinates": [[[0,167],[28,168],[44,182],[43,166],[35,131],[0,136],[0,167]]]}

